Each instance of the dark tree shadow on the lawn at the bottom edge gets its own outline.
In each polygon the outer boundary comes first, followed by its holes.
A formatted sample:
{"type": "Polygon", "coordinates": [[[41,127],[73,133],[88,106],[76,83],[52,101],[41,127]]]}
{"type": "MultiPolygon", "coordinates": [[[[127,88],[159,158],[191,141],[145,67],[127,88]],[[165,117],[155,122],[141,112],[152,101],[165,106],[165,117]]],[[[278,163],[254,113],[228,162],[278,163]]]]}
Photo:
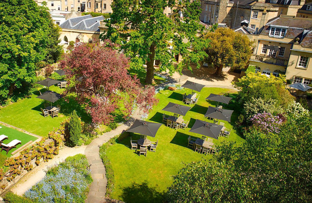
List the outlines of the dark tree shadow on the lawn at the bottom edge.
{"type": "Polygon", "coordinates": [[[149,187],[148,183],[132,183],[122,189],[122,200],[128,203],[164,202],[164,193],[156,191],[156,187],[149,187]]]}

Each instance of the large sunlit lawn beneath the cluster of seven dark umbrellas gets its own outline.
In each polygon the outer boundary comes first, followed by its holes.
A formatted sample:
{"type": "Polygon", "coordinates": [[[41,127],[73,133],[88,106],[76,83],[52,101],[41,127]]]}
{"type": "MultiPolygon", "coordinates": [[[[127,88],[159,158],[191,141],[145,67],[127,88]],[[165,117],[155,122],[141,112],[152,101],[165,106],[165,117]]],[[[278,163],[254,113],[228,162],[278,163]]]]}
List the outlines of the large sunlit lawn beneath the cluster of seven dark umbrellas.
{"type": "MultiPolygon", "coordinates": [[[[211,158],[212,155],[202,155],[194,152],[187,147],[188,136],[193,138],[201,138],[201,135],[189,133],[188,131],[195,123],[195,119],[209,121],[204,118],[208,106],[215,106],[217,102],[207,102],[205,98],[210,93],[219,94],[221,92],[231,91],[221,88],[203,88],[200,93],[200,99],[197,104],[192,105],[192,109],[188,111],[184,120],[189,121],[189,128],[186,130],[174,130],[162,125],[155,138],[148,137],[155,141],[158,139],[156,152],[148,152],[147,157],[139,156],[134,150],[129,148],[130,138],[126,138],[121,142],[111,146],[107,150],[107,157],[112,163],[115,174],[115,191],[111,198],[122,200],[125,202],[159,202],[167,187],[172,184],[172,176],[176,175],[184,163],[191,161],[199,161],[202,158],[211,158]]],[[[191,90],[184,89],[180,91],[164,90],[157,94],[160,99],[156,107],[149,114],[149,121],[162,123],[162,114],[173,115],[170,112],[162,111],[168,102],[183,104],[182,95],[191,90]]],[[[184,104],[185,105],[185,104],[184,104]]],[[[223,105],[227,109],[226,105],[223,105]]],[[[233,127],[239,112],[234,110],[231,123],[225,122],[225,126],[229,129],[233,127]]],[[[132,139],[139,139],[139,135],[134,135],[132,139]]],[[[236,134],[233,129],[229,138],[221,137],[219,140],[214,139],[215,144],[222,140],[233,140],[241,143],[243,138],[236,134]]]]}

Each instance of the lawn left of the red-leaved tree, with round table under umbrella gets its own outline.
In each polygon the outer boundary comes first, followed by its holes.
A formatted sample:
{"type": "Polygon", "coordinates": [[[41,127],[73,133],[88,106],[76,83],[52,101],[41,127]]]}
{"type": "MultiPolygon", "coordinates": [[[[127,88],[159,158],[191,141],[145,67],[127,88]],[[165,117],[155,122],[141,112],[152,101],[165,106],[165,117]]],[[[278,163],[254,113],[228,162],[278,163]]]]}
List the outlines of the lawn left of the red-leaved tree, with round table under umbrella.
{"type": "MultiPolygon", "coordinates": [[[[51,86],[50,90],[58,93],[63,91],[57,86],[51,86]]],[[[46,89],[41,89],[41,93],[44,91],[46,91],[46,89]]],[[[83,121],[90,120],[90,117],[85,113],[85,109],[76,102],[75,95],[61,98],[55,103],[52,103],[53,106],[57,104],[61,105],[59,117],[43,117],[40,108],[44,109],[44,103],[47,101],[37,99],[37,96],[38,92],[35,92],[30,98],[22,99],[2,108],[0,110],[0,121],[45,137],[53,128],[58,128],[60,123],[68,118],[74,109],[76,109],[78,116],[80,116],[83,121]],[[67,101],[65,99],[67,99],[67,101]]]]}

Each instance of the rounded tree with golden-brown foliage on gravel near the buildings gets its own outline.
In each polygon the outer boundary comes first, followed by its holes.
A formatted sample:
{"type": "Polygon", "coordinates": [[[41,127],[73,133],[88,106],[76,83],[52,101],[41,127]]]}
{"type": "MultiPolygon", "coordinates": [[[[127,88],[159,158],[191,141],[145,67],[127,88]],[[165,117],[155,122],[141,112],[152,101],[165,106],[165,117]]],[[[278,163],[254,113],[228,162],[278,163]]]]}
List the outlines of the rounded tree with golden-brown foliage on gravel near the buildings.
{"type": "Polygon", "coordinates": [[[217,28],[205,36],[210,40],[205,61],[221,76],[223,67],[244,68],[250,59],[253,42],[246,35],[229,28],[217,28]]]}

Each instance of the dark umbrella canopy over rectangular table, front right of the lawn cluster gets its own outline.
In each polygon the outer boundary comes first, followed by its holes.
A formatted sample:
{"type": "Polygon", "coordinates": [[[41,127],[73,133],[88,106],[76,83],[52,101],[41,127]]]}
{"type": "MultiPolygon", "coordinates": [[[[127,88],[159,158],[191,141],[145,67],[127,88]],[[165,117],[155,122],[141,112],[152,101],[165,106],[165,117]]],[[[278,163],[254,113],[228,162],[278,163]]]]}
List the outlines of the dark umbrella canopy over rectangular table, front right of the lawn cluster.
{"type": "Polygon", "coordinates": [[[198,133],[203,136],[218,139],[222,125],[208,123],[206,121],[196,119],[193,127],[188,132],[198,133]]]}

